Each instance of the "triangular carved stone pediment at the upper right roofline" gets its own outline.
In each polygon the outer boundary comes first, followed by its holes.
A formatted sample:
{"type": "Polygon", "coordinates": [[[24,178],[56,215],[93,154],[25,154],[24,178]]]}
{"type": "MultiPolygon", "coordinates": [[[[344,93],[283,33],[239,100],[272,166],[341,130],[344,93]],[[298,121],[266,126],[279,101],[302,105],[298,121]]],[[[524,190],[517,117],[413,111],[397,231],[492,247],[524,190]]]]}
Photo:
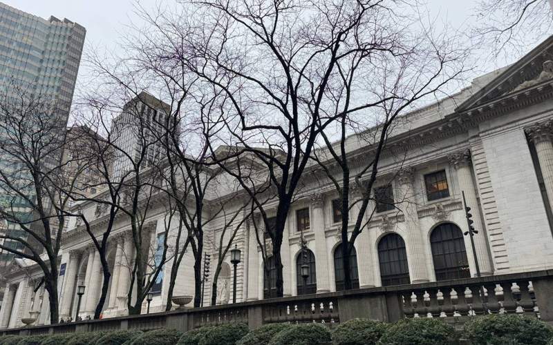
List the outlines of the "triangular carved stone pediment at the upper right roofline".
{"type": "Polygon", "coordinates": [[[550,36],[527,55],[505,68],[456,110],[465,112],[512,97],[516,100],[518,95],[529,95],[531,90],[541,91],[544,87],[552,86],[553,36],[550,36]]]}

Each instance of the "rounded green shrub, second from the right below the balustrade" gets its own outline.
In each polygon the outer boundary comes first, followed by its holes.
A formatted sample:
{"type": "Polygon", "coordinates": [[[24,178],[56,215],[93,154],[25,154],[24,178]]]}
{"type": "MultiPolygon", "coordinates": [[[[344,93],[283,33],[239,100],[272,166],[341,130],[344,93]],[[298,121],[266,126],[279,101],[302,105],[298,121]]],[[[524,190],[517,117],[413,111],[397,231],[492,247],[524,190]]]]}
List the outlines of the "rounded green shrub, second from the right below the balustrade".
{"type": "Polygon", "coordinates": [[[458,335],[441,319],[405,319],[389,326],[380,338],[390,345],[449,345],[458,342],[458,335]]]}

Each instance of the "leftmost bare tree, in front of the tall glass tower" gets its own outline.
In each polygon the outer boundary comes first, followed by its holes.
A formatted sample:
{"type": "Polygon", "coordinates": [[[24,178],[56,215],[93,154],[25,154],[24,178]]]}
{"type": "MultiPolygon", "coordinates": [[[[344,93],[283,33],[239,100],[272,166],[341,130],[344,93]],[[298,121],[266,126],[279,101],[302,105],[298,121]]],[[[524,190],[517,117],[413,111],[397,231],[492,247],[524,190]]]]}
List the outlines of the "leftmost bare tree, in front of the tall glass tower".
{"type": "Polygon", "coordinates": [[[82,166],[62,163],[66,128],[55,100],[12,83],[0,98],[0,248],[35,262],[44,273],[50,323],[59,321],[59,248],[69,198],[82,166]]]}

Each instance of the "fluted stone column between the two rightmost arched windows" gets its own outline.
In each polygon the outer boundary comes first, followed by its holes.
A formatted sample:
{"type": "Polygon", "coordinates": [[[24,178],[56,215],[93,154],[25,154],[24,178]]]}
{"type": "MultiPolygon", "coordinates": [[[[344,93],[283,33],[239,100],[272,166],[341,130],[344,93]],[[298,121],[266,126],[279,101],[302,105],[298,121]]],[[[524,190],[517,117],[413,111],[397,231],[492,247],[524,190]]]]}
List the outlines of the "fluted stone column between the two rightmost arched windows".
{"type": "Polygon", "coordinates": [[[403,168],[398,174],[400,188],[404,196],[402,202],[402,211],[405,218],[407,259],[409,262],[409,275],[411,283],[429,282],[429,273],[427,270],[427,260],[424,251],[424,239],[420,230],[417,205],[415,204],[415,188],[413,187],[415,169],[412,167],[403,168]]]}

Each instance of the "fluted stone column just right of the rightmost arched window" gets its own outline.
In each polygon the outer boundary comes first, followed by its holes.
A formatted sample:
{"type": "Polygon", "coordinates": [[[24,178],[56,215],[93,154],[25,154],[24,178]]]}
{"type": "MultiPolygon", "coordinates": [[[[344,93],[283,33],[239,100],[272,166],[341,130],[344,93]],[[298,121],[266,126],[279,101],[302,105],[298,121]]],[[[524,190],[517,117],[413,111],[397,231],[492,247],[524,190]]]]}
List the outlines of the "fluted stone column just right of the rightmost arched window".
{"type": "MultiPolygon", "coordinates": [[[[491,259],[489,257],[489,250],[487,247],[487,235],[482,223],[482,215],[480,213],[480,206],[478,206],[478,199],[476,198],[476,188],[472,178],[472,164],[471,164],[471,152],[467,148],[460,152],[456,152],[449,156],[449,161],[453,167],[457,170],[457,178],[459,181],[459,189],[465,192],[465,199],[467,200],[467,206],[471,208],[472,219],[474,220],[474,228],[478,230],[478,234],[474,235],[474,246],[476,248],[476,257],[478,257],[478,266],[480,267],[481,275],[494,274],[494,268],[491,266],[491,259]]],[[[464,231],[469,230],[466,224],[462,224],[464,231]]],[[[472,247],[470,239],[465,236],[465,246],[467,253],[472,257],[472,247]]],[[[474,257],[473,257],[474,261],[474,257]]],[[[471,263],[473,276],[476,277],[476,264],[471,263]]]]}

